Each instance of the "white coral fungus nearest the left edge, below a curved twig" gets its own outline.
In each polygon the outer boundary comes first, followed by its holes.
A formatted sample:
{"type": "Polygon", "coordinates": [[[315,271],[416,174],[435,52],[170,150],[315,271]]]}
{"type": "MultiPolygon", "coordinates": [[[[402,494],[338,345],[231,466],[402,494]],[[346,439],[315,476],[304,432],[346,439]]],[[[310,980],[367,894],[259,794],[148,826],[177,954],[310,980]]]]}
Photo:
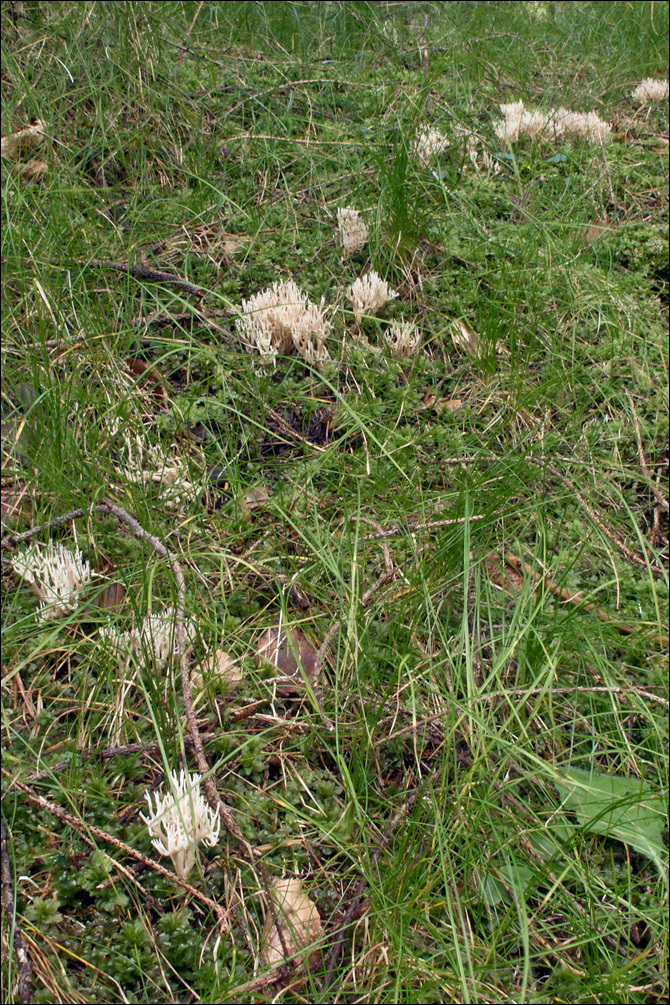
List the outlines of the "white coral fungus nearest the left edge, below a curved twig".
{"type": "Polygon", "coordinates": [[[77,548],[70,552],[49,541],[42,549],[36,544],[12,559],[14,572],[29,583],[38,597],[40,619],[64,618],[79,606],[79,595],[93,575],[77,548]]]}

